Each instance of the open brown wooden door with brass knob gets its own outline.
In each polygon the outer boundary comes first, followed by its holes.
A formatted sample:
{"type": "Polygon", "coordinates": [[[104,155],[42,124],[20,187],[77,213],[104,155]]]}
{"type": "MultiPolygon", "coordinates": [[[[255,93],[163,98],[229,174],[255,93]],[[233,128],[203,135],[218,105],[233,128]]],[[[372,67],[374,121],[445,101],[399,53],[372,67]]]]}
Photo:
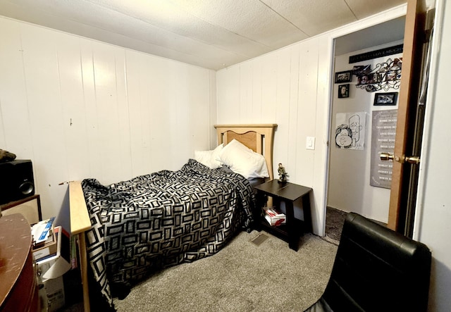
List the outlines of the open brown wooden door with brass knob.
{"type": "Polygon", "coordinates": [[[414,152],[415,145],[421,144],[423,129],[418,103],[423,67],[423,49],[426,41],[425,20],[426,5],[424,0],[409,0],[404,30],[402,79],[388,212],[388,227],[407,236],[410,235],[406,226],[409,224],[409,218],[413,216],[412,213],[414,214],[419,166],[405,161],[405,156],[419,156],[411,153],[414,152]],[[419,119],[417,119],[417,116],[419,119]],[[411,205],[410,208],[408,208],[409,205],[411,205]]]}

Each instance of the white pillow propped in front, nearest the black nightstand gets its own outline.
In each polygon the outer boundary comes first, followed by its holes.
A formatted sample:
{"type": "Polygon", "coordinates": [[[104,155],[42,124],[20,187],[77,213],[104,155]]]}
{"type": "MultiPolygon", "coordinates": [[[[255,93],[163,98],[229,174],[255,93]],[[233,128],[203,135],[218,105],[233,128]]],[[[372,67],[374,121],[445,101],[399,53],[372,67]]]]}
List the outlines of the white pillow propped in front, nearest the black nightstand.
{"type": "Polygon", "coordinates": [[[219,153],[219,158],[234,173],[239,173],[247,179],[269,177],[264,156],[255,153],[236,139],[224,146],[219,153]]]}

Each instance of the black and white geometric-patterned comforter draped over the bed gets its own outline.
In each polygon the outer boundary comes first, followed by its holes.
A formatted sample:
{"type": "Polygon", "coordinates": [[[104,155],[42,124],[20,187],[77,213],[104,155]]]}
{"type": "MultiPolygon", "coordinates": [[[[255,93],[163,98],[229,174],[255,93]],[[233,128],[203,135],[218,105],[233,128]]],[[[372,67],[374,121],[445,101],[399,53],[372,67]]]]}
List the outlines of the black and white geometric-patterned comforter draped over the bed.
{"type": "Polygon", "coordinates": [[[109,186],[83,180],[82,189],[92,223],[88,261],[111,306],[110,283],[215,254],[252,223],[255,197],[245,177],[193,159],[178,171],[109,186]]]}

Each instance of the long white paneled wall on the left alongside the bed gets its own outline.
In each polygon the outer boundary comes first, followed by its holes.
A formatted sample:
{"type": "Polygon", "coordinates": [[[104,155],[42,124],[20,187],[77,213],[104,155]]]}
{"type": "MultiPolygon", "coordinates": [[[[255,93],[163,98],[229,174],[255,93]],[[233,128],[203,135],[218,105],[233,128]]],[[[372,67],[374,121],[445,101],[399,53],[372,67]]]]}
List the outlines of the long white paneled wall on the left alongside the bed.
{"type": "Polygon", "coordinates": [[[214,71],[1,17],[0,38],[0,149],[32,160],[44,218],[61,182],[176,170],[216,141],[214,71]]]}

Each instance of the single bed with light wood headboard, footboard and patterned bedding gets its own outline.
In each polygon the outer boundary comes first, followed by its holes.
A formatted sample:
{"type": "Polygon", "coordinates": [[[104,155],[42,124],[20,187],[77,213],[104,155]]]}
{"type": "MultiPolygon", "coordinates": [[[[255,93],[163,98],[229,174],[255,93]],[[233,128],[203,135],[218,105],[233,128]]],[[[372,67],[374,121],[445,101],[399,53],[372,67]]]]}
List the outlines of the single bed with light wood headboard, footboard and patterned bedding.
{"type": "Polygon", "coordinates": [[[211,256],[238,230],[250,230],[251,185],[258,178],[235,156],[244,151],[243,145],[263,155],[266,176],[273,179],[276,126],[215,125],[218,147],[196,151],[195,159],[177,171],[161,170],[109,186],[94,179],[70,182],[70,231],[78,236],[85,311],[89,269],[94,288],[112,306],[112,287],[211,256]],[[218,153],[232,170],[214,166],[218,153]],[[206,156],[211,162],[204,161],[206,156]]]}

